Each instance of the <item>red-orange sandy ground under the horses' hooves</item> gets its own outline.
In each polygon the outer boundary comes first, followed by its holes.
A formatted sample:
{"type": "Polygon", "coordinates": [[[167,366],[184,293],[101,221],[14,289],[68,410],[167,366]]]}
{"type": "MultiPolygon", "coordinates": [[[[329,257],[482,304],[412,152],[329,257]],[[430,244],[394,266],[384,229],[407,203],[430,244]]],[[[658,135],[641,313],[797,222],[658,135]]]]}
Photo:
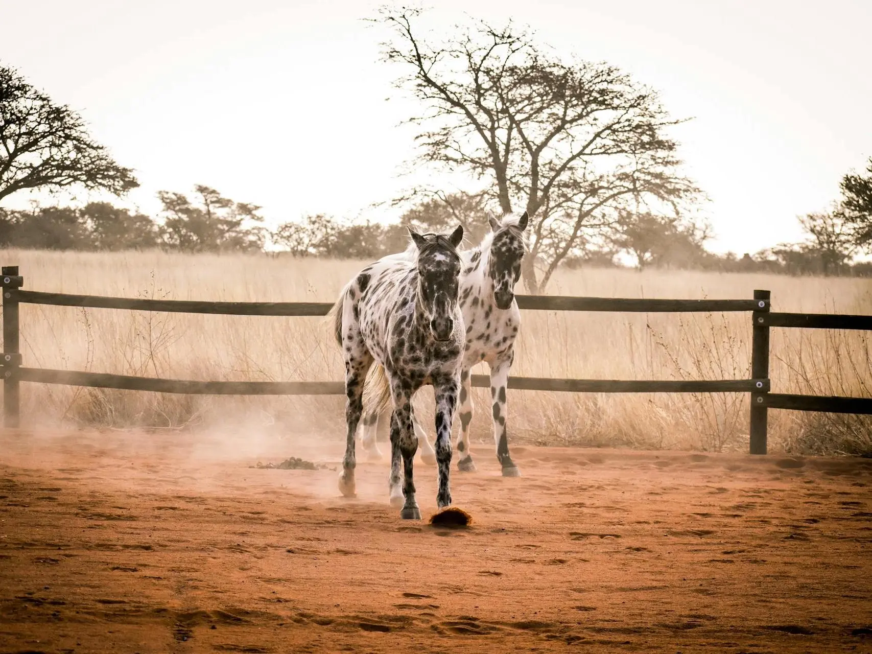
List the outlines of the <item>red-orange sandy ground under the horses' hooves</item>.
{"type": "Polygon", "coordinates": [[[189,439],[0,435],[0,651],[872,651],[872,460],[475,447],[450,530],[189,439]]]}

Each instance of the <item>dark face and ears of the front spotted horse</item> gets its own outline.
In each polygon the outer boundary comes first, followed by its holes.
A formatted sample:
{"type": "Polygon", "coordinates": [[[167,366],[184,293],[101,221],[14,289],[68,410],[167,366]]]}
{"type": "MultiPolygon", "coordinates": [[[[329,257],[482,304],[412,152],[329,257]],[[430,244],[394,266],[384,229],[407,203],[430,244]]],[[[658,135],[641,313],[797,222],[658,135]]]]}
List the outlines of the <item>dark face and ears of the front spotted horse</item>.
{"type": "Polygon", "coordinates": [[[409,229],[418,247],[418,302],[430,318],[430,331],[437,341],[447,341],[454,331],[454,315],[460,292],[460,255],[457,246],[463,239],[463,228],[451,235],[422,236],[409,229]]]}

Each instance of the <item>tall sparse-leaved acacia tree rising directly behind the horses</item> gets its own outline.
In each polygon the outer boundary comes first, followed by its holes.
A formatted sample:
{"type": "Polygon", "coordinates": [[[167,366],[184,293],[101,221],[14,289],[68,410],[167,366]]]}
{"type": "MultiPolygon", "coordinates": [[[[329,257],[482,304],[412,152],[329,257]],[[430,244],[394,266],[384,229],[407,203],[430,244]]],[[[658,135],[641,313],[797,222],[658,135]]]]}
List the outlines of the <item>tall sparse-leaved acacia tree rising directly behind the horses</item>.
{"type": "Polygon", "coordinates": [[[458,27],[438,44],[419,36],[416,9],[382,8],[392,28],[384,58],[426,112],[411,122],[421,157],[487,181],[502,212],[526,208],[525,285],[539,292],[586,228],[631,201],[678,209],[698,189],[678,174],[677,125],[657,93],[614,66],[564,59],[509,23],[458,27]],[[535,262],[542,259],[541,271],[535,262]]]}

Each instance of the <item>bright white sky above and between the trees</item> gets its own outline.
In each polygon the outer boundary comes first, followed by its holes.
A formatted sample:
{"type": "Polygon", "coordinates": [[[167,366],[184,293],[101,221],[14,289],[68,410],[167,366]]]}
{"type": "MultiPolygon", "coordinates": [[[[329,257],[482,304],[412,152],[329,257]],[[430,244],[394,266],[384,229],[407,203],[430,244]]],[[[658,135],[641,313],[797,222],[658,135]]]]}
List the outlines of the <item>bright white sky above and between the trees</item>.
{"type": "MultiPolygon", "coordinates": [[[[158,190],[202,183],[261,205],[270,224],[318,212],[378,220],[395,214],[367,207],[415,181],[400,174],[414,132],[398,124],[419,111],[392,88],[401,70],[378,60],[385,31],[361,20],[378,4],[0,0],[0,62],[82,113],[136,170],[130,202],[147,213],[158,190]]],[[[433,4],[433,30],[464,12],[512,17],[694,118],[675,134],[712,199],[710,249],[799,239],[796,215],[827,208],[841,175],[872,156],[869,0],[433,4]]]]}

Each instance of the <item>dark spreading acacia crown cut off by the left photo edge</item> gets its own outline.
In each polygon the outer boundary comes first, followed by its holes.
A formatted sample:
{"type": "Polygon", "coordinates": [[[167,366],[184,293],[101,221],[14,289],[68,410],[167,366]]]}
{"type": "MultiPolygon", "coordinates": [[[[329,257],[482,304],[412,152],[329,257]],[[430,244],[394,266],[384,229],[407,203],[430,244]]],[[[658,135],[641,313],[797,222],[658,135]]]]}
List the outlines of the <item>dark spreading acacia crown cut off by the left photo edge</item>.
{"type": "Polygon", "coordinates": [[[28,188],[73,185],[125,194],[139,182],[92,140],[78,113],[0,66],[0,200],[28,188]]]}

